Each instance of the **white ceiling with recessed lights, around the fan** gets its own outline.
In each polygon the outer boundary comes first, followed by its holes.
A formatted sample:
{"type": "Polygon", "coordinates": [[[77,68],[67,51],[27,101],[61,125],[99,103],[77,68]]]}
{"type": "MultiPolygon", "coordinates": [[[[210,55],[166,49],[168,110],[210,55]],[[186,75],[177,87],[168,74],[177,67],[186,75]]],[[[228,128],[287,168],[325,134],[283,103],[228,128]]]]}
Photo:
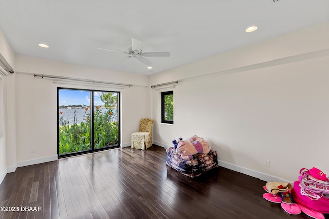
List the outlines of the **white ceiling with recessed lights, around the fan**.
{"type": "Polygon", "coordinates": [[[0,30],[16,54],[143,75],[325,21],[328,0],[0,0],[0,30]],[[251,25],[258,30],[244,32],[251,25]],[[97,49],[127,51],[132,37],[171,56],[149,57],[149,71],[97,49]]]}

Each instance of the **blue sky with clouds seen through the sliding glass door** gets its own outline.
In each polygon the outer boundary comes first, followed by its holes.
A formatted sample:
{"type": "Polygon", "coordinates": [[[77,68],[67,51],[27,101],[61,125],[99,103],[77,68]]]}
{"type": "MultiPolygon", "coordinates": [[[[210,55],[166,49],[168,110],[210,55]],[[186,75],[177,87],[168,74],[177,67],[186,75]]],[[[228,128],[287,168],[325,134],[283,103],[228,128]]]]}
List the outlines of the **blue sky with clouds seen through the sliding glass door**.
{"type": "MultiPolygon", "coordinates": [[[[103,106],[104,103],[101,101],[100,96],[103,92],[94,91],[94,106],[103,106]]],[[[105,92],[106,93],[106,92],[105,92]]],[[[90,91],[81,91],[81,90],[64,90],[59,89],[58,91],[59,105],[68,106],[68,105],[90,105],[90,91]]]]}

